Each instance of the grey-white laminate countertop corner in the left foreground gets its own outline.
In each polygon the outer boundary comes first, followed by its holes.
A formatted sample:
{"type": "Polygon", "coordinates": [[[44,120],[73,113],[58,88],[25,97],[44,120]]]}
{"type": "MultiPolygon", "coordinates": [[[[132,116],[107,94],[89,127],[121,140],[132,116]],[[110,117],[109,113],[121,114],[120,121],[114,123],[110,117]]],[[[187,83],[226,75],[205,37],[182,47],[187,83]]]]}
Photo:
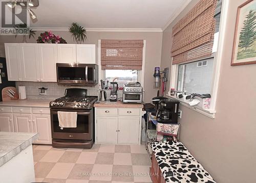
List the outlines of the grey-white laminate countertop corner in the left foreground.
{"type": "Polygon", "coordinates": [[[0,132],[0,166],[30,146],[38,133],[0,132]]]}

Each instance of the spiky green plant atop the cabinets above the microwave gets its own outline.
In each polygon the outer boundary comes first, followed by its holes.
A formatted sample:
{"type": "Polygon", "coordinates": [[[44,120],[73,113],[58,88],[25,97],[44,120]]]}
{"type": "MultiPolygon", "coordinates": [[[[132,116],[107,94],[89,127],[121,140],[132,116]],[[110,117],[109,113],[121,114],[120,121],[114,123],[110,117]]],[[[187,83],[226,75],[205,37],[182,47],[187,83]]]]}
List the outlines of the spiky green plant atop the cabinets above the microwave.
{"type": "Polygon", "coordinates": [[[86,28],[82,27],[76,22],[73,22],[69,27],[69,33],[73,36],[73,40],[78,43],[79,41],[84,42],[87,39],[86,28]]]}

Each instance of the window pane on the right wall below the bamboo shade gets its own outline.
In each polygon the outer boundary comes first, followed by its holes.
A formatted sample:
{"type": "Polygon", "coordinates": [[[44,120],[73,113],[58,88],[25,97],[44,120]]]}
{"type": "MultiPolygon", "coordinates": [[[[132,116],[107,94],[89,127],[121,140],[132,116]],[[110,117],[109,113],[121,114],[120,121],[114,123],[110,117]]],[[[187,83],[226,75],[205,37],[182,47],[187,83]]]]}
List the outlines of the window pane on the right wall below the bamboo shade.
{"type": "Polygon", "coordinates": [[[180,64],[178,66],[178,91],[211,94],[214,58],[180,64]]]}

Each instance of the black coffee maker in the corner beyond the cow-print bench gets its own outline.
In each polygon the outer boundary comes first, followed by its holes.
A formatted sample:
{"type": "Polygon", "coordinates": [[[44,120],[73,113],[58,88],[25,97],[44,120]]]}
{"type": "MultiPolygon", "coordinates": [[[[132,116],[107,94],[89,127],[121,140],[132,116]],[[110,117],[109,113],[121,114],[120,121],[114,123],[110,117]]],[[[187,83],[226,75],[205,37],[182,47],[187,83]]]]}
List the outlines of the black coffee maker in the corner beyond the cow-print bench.
{"type": "Polygon", "coordinates": [[[159,101],[157,121],[159,123],[178,123],[179,101],[175,99],[163,99],[159,101]]]}

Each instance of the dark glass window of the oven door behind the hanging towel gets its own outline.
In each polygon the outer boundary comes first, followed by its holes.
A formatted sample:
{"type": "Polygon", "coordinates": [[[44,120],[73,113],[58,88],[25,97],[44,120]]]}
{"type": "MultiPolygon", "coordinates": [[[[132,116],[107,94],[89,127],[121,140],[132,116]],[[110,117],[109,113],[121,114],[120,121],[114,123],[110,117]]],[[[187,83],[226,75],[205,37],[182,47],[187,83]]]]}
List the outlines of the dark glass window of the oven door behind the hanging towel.
{"type": "Polygon", "coordinates": [[[53,114],[53,132],[62,132],[62,133],[89,133],[89,115],[77,115],[76,128],[63,128],[60,129],[58,115],[53,114]]]}

